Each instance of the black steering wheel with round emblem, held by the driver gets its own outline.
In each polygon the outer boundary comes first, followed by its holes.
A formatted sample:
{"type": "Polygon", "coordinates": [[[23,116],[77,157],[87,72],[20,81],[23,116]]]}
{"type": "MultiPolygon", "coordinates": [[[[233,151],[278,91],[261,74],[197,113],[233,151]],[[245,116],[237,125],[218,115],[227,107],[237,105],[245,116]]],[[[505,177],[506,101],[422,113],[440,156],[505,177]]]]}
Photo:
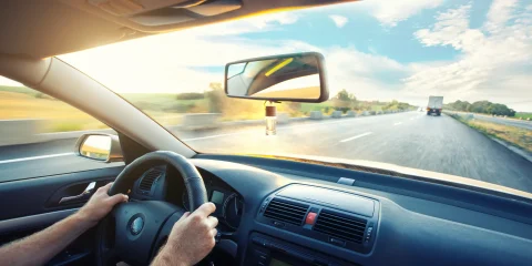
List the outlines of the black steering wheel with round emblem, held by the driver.
{"type": "MultiPolygon", "coordinates": [[[[109,195],[127,194],[142,174],[162,163],[174,166],[183,176],[191,211],[207,202],[202,175],[182,155],[174,152],[147,153],[124,167],[109,195]]],[[[176,178],[176,176],[168,176],[176,178]]],[[[163,201],[131,201],[119,204],[96,228],[96,265],[147,265],[166,242],[172,227],[185,209],[163,201]]]]}

